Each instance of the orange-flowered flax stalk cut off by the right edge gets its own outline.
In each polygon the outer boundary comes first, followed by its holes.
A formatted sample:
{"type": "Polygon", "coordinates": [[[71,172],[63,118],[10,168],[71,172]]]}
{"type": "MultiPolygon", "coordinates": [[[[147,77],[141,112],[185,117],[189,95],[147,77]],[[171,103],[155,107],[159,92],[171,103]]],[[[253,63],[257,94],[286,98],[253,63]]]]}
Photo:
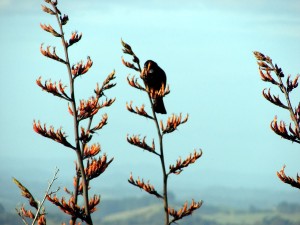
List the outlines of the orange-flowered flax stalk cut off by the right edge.
{"type": "MultiPolygon", "coordinates": [[[[283,79],[285,78],[285,75],[282,69],[277,64],[273,64],[273,61],[269,56],[260,52],[254,52],[254,56],[257,59],[261,79],[277,86],[281,91],[284,100],[281,100],[279,95],[276,96],[271,94],[270,88],[268,91],[266,91],[266,88],[263,90],[262,94],[264,98],[277,107],[287,110],[291,118],[287,128],[286,123],[284,121],[278,121],[277,116],[275,116],[270,124],[272,131],[283,139],[300,144],[300,102],[298,102],[298,106],[295,106],[291,101],[291,93],[298,87],[299,75],[295,76],[294,79],[291,79],[291,75],[289,75],[284,82],[283,79]]],[[[284,183],[300,189],[300,176],[297,175],[295,180],[287,176],[284,169],[285,165],[277,172],[279,179],[284,183]]]]}

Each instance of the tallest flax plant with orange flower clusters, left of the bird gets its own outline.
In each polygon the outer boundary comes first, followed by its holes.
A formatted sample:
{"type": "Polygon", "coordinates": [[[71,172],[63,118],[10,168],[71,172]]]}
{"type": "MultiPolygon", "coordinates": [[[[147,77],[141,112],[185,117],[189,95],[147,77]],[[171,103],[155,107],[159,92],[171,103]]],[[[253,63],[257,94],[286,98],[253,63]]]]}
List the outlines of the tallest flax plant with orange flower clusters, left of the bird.
{"type": "MultiPolygon", "coordinates": [[[[64,213],[70,215],[69,224],[80,224],[78,220],[81,220],[88,225],[92,225],[91,214],[97,210],[96,206],[100,203],[100,196],[89,196],[90,181],[100,176],[113,161],[113,158],[107,159],[106,154],[99,156],[101,151],[100,144],[91,144],[90,142],[93,135],[107,124],[107,114],[102,115],[100,118],[97,115],[101,109],[111,106],[115,101],[115,98],[107,98],[104,94],[106,90],[115,86],[114,83],[111,83],[115,78],[115,72],[110,73],[101,85],[96,84],[94,96],[87,100],[81,99],[78,101],[75,98],[75,82],[77,82],[78,77],[85,75],[89,71],[93,65],[93,61],[90,57],[87,57],[86,62],[80,61],[71,64],[69,48],[81,40],[82,34],[75,31],[71,34],[70,38],[67,38],[64,33],[64,27],[68,23],[69,17],[60,12],[57,0],[44,1],[46,5],[42,5],[42,10],[56,19],[58,28],[55,29],[53,26],[46,24],[41,24],[40,26],[44,31],[60,39],[64,56],[59,56],[55,51],[55,47],[44,47],[43,44],[40,46],[40,52],[45,57],[66,66],[69,86],[67,88],[67,85],[61,81],[56,83],[46,80],[43,82],[42,77],[36,80],[36,84],[43,91],[53,94],[66,102],[66,107],[73,121],[74,140],[69,140],[62,128],[47,127],[46,124],[42,125],[40,121],[36,120],[33,122],[33,130],[46,138],[64,145],[77,156],[73,190],[64,188],[68,199],[66,197],[59,199],[54,193],[47,194],[46,198],[64,213]],[[105,99],[100,100],[103,97],[105,99]],[[96,124],[93,123],[94,120],[96,120],[96,124]],[[80,205],[80,202],[82,202],[81,200],[79,201],[80,198],[83,199],[82,205],[80,205]]],[[[26,217],[26,214],[22,215],[26,217]]],[[[46,224],[46,222],[39,224],[46,224]]]]}

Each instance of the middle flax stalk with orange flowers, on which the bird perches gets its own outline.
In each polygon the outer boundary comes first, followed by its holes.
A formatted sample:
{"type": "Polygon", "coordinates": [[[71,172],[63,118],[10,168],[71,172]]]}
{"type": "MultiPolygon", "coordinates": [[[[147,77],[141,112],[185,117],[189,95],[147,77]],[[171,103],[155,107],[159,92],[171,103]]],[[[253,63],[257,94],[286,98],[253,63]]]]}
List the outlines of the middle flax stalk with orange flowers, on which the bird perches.
{"type": "Polygon", "coordinates": [[[165,162],[166,151],[163,145],[163,137],[177,130],[177,128],[181,124],[186,123],[188,120],[188,115],[183,117],[181,114],[179,115],[172,114],[168,117],[166,122],[163,122],[162,120],[160,121],[158,120],[157,114],[154,110],[154,101],[152,99],[154,95],[165,97],[167,94],[169,94],[170,93],[169,86],[166,85],[166,87],[164,87],[163,85],[163,88],[159,90],[157,93],[152,93],[153,91],[149,90],[145,83],[145,77],[142,74],[139,58],[135,55],[130,45],[128,45],[124,41],[121,41],[121,43],[123,45],[123,52],[133,57],[132,63],[125,61],[123,58],[122,58],[122,63],[126,67],[140,73],[140,78],[143,81],[143,85],[140,84],[138,78],[135,78],[134,76],[132,77],[128,76],[127,81],[131,87],[136,88],[147,94],[152,110],[150,113],[148,113],[144,105],[140,107],[134,107],[132,106],[132,101],[130,103],[126,103],[126,108],[129,112],[136,114],[138,116],[145,117],[154,122],[157,131],[158,145],[155,144],[154,139],[152,140],[151,144],[147,143],[146,137],[141,138],[140,135],[131,135],[131,136],[127,135],[127,141],[131,145],[134,145],[142,150],[146,150],[147,152],[151,153],[154,157],[158,158],[162,169],[163,190],[157,191],[154,185],[152,185],[149,181],[145,182],[143,179],[140,178],[134,179],[132,174],[130,175],[128,182],[133,186],[136,186],[146,191],[148,194],[154,195],[157,198],[162,200],[163,207],[164,207],[164,221],[165,221],[164,224],[170,225],[172,223],[176,223],[178,220],[182,219],[183,217],[191,215],[196,209],[200,208],[200,206],[202,205],[202,201],[196,202],[192,200],[190,204],[185,202],[182,208],[175,210],[174,208],[169,206],[169,202],[168,202],[168,178],[174,174],[179,175],[185,167],[188,167],[192,163],[195,163],[201,157],[202,151],[195,150],[186,159],[182,160],[181,158],[179,158],[174,165],[169,165],[169,168],[166,167],[166,162],[165,162]]]}

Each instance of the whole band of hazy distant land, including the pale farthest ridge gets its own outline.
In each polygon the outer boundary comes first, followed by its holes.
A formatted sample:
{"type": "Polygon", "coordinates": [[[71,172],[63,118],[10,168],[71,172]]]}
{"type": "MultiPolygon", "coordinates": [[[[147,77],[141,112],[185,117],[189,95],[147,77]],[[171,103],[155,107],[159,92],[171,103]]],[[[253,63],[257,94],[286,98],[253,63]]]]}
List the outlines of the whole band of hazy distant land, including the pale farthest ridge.
{"type": "MultiPolygon", "coordinates": [[[[129,196],[122,187],[122,193],[115,193],[113,189],[102,189],[101,204],[93,214],[95,224],[101,225],[159,225],[163,224],[161,200],[148,196],[144,192],[135,192],[137,196],[129,196]],[[114,194],[114,195],[113,195],[114,194]],[[110,197],[107,197],[110,196],[110,197]],[[127,197],[124,197],[127,196],[127,197]]],[[[6,189],[7,190],[7,189],[6,189]]],[[[14,189],[14,196],[0,192],[0,224],[23,224],[16,215],[14,208],[26,203],[14,189]]],[[[33,193],[34,190],[33,190],[33,193]]],[[[131,192],[132,193],[132,192],[131,192]]],[[[299,193],[291,191],[276,191],[266,189],[245,189],[211,187],[201,190],[178,188],[175,196],[170,193],[169,200],[172,207],[179,208],[192,198],[204,200],[203,206],[191,217],[179,221],[188,225],[299,225],[300,201],[299,193]]],[[[42,194],[39,194],[43,196],[42,194]]],[[[38,196],[38,194],[37,194],[38,196]]],[[[69,221],[69,217],[62,214],[51,203],[46,202],[48,212],[47,225],[57,225],[69,221]]]]}

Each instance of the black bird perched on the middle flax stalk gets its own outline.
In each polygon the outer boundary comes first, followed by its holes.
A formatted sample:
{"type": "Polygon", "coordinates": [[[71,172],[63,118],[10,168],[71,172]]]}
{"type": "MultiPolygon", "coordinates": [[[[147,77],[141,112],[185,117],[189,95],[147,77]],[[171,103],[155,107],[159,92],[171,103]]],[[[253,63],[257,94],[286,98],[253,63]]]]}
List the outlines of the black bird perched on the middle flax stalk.
{"type": "Polygon", "coordinates": [[[166,114],[166,108],[161,96],[166,87],[167,76],[156,62],[147,60],[141,72],[141,78],[145,82],[146,90],[153,99],[154,111],[156,113],[166,114]]]}

